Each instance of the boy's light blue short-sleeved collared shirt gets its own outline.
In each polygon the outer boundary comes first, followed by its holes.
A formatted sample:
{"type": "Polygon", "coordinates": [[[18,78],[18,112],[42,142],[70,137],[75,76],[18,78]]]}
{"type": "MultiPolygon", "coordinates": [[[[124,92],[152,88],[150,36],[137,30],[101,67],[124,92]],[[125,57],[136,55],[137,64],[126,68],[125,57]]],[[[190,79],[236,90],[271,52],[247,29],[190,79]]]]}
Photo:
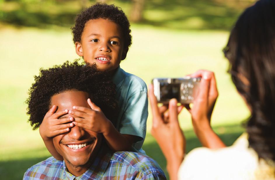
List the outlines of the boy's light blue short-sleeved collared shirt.
{"type": "Polygon", "coordinates": [[[140,141],[133,144],[133,151],[141,152],[146,135],[146,121],[148,117],[148,97],[145,82],[130,73],[126,73],[120,66],[117,68],[113,82],[116,85],[116,99],[119,114],[116,129],[121,134],[140,137],[140,141]]]}

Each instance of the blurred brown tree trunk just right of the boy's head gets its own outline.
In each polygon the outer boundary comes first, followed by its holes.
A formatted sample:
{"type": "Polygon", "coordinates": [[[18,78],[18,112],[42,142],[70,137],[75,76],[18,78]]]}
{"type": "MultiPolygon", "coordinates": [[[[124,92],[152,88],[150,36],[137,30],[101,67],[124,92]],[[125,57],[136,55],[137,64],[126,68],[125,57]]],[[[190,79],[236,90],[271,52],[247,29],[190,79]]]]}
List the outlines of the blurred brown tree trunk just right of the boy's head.
{"type": "Polygon", "coordinates": [[[145,0],[132,0],[132,11],[130,14],[130,20],[133,22],[140,22],[143,19],[143,10],[145,0]]]}

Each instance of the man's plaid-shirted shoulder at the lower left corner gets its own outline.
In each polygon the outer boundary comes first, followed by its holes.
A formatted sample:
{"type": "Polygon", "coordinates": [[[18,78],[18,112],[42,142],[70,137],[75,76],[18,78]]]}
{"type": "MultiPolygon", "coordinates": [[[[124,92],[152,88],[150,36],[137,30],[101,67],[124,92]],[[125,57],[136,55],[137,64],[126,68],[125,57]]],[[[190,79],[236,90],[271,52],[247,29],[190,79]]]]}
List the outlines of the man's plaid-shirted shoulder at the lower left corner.
{"type": "Polygon", "coordinates": [[[63,170],[63,162],[56,160],[54,157],[49,157],[27,169],[23,179],[53,177],[51,174],[56,173],[58,170],[63,170]]]}

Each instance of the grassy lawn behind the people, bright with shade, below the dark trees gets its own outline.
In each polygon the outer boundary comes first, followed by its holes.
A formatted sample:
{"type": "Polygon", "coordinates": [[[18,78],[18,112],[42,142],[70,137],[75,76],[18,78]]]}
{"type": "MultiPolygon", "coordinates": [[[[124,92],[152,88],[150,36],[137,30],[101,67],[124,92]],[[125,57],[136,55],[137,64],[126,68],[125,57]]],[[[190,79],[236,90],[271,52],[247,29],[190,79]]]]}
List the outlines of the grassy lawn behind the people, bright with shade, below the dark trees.
{"type": "MultiPolygon", "coordinates": [[[[133,45],[121,67],[150,83],[154,77],[182,77],[198,69],[215,72],[219,98],[212,125],[231,145],[243,132],[241,121],[248,110],[234,88],[227,71],[222,47],[228,32],[176,31],[147,26],[132,26],[133,45]]],[[[78,58],[69,29],[0,29],[0,177],[22,179],[27,168],[50,156],[38,131],[27,123],[28,88],[39,68],[78,58]]],[[[152,115],[149,109],[144,150],[165,170],[166,162],[150,135],[152,115]]],[[[187,138],[187,151],[200,146],[192,131],[187,111],[180,115],[187,138]]],[[[166,171],[166,170],[165,170],[166,171]]]]}

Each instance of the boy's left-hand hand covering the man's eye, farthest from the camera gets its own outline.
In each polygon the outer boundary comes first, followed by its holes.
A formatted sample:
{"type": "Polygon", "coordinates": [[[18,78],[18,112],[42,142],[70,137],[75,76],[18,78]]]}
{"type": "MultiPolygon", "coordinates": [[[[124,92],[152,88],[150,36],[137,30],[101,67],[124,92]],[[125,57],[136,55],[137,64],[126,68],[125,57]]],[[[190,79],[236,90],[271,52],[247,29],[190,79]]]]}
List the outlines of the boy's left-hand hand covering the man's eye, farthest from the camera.
{"type": "Polygon", "coordinates": [[[64,124],[72,121],[72,117],[58,119],[60,116],[68,113],[67,109],[59,112],[56,112],[56,110],[57,106],[53,105],[53,107],[44,116],[44,119],[39,127],[39,133],[43,140],[48,140],[53,136],[65,133],[74,125],[72,123],[64,124]]]}

